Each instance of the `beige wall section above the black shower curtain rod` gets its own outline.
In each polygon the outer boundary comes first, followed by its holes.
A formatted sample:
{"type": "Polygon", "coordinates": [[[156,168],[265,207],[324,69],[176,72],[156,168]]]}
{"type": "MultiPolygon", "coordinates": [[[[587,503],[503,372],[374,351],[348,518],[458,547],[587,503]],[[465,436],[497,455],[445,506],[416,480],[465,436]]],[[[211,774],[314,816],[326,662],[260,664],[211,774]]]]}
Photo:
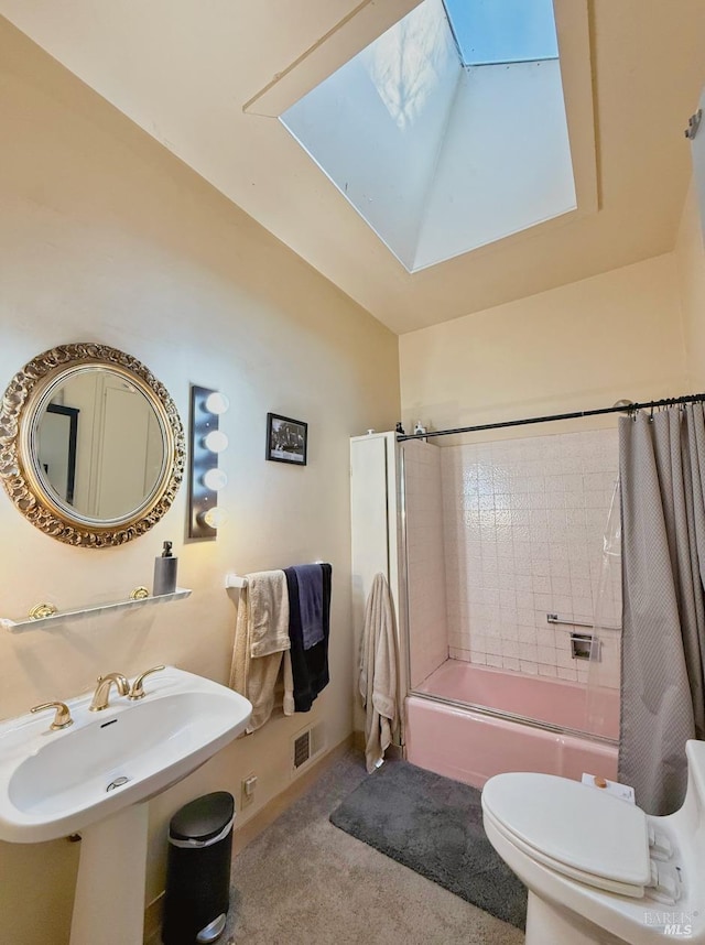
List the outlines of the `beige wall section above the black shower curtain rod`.
{"type": "Polygon", "coordinates": [[[399,348],[406,426],[444,430],[688,389],[673,253],[402,335],[399,348]]]}

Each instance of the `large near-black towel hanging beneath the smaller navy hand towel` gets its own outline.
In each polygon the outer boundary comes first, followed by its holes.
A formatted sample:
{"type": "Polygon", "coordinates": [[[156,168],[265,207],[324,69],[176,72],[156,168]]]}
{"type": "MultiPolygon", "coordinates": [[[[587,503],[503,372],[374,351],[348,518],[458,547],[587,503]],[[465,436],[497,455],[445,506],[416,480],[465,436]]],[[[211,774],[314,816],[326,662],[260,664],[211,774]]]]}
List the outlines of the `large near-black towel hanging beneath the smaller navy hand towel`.
{"type": "Polygon", "coordinates": [[[294,678],[294,709],[308,712],[318,693],[328,685],[328,634],[330,631],[330,585],[333,567],[329,564],[314,565],[321,568],[323,585],[322,626],[323,640],[308,650],[304,647],[301,619],[299,578],[295,567],[284,568],[289,590],[289,639],[291,640],[291,669],[294,678]]]}

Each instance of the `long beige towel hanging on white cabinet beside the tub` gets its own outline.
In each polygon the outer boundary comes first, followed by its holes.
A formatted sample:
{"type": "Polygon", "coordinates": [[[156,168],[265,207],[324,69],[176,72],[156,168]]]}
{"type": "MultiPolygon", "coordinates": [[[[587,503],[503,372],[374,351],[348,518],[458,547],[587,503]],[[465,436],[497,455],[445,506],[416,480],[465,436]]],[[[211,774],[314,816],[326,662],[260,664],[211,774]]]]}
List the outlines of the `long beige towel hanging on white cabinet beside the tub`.
{"type": "Polygon", "coordinates": [[[365,706],[365,761],[371,774],[384,760],[399,725],[397,637],[384,575],[377,574],[365,608],[360,647],[360,695],[365,706]]]}

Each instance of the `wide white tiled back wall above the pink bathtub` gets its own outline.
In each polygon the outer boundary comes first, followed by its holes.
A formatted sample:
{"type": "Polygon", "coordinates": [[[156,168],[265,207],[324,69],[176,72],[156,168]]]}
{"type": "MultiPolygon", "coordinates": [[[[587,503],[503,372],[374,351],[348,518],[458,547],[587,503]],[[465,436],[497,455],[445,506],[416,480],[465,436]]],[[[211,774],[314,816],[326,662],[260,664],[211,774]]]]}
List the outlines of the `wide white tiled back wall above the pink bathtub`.
{"type": "MultiPolygon", "coordinates": [[[[570,649],[570,632],[579,628],[551,626],[546,613],[590,621],[599,600],[605,622],[619,622],[618,562],[608,569],[607,582],[600,582],[618,471],[617,432],[527,437],[437,453],[449,655],[585,680],[588,664],[572,659],[570,649]],[[606,584],[601,597],[600,583],[606,584]]],[[[607,643],[609,631],[600,636],[607,643]]]]}

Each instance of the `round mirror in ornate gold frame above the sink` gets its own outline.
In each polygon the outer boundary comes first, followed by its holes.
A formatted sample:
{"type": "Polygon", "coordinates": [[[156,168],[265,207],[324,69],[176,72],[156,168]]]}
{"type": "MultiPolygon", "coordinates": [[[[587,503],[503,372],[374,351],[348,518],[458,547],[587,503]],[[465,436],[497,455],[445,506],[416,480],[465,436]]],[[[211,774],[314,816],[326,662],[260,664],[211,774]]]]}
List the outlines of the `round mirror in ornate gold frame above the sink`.
{"type": "Polygon", "coordinates": [[[184,430],[166,389],[106,345],[33,358],[0,405],[0,478],[20,512],[58,541],[123,544],[170,508],[184,430]]]}

